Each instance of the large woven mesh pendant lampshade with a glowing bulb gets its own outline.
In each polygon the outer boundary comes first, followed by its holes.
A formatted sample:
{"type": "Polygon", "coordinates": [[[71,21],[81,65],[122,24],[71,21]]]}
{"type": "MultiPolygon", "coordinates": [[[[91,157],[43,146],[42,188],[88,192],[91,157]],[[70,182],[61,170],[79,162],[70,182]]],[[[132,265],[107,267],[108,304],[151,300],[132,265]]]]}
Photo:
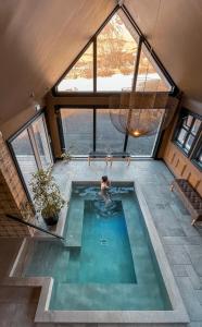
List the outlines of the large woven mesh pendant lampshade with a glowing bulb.
{"type": "Polygon", "coordinates": [[[178,100],[167,93],[123,93],[110,99],[110,117],[121,133],[134,137],[154,135],[169,124],[178,100]],[[113,108],[113,109],[112,109],[113,108]]]}

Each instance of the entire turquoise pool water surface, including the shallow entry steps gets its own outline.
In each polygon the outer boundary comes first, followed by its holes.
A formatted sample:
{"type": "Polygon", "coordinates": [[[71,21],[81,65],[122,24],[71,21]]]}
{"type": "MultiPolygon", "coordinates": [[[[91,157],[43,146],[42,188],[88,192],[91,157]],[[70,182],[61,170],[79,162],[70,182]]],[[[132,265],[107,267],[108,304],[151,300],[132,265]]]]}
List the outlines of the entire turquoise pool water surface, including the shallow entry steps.
{"type": "Polygon", "coordinates": [[[33,241],[24,276],[52,276],[51,310],[172,310],[132,184],[105,203],[73,184],[65,244],[33,241]]]}

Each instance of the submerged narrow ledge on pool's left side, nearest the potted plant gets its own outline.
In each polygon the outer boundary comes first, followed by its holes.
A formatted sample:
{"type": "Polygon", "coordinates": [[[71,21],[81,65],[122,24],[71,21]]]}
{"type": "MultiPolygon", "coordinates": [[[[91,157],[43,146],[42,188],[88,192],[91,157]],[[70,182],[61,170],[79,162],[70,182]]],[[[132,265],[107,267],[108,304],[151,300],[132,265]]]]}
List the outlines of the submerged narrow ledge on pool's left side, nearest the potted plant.
{"type": "Polygon", "coordinates": [[[64,231],[67,247],[80,247],[83,238],[84,199],[73,197],[67,213],[66,229],[64,231]]]}

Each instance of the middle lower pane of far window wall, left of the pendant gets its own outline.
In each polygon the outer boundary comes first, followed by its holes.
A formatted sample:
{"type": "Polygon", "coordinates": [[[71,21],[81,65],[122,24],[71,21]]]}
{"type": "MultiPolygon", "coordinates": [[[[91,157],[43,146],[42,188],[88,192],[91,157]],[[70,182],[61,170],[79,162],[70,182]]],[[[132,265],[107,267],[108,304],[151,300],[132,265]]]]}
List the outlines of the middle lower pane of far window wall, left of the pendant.
{"type": "Polygon", "coordinates": [[[97,109],[96,149],[100,152],[123,152],[125,134],[111,122],[110,109],[97,109]]]}

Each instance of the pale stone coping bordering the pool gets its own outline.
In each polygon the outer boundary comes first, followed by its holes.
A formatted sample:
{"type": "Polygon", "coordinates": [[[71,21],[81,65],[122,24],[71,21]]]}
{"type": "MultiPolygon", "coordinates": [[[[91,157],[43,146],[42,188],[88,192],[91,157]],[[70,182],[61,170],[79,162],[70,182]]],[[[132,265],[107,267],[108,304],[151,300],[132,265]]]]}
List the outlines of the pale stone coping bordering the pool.
{"type": "MultiPolygon", "coordinates": [[[[90,183],[91,181],[72,181],[74,183],[90,183]]],[[[27,239],[22,241],[22,245],[11,268],[8,278],[3,279],[1,284],[18,286],[18,287],[40,287],[41,292],[35,315],[35,323],[101,323],[101,324],[185,324],[187,325],[189,316],[185,308],[181,295],[179,293],[177,283],[173,276],[169,263],[165,255],[162,242],[154,226],[152,214],[148,207],[143,192],[137,181],[113,181],[114,183],[125,184],[132,183],[140,209],[148,228],[152,246],[162,272],[162,277],[169,295],[173,311],[49,311],[50,298],[53,287],[52,277],[13,277],[13,272],[17,268],[23,252],[26,250],[27,239]],[[165,267],[166,266],[166,267],[165,267]],[[165,278],[166,277],[166,278],[165,278]]],[[[99,183],[93,181],[93,183],[99,183]]],[[[42,238],[41,238],[42,239],[42,238]]],[[[48,238],[47,238],[48,239],[48,238]]],[[[48,241],[48,240],[47,240],[48,241]]],[[[49,239],[50,241],[50,239],[49,239]]],[[[167,325],[167,326],[168,326],[167,325]]]]}

